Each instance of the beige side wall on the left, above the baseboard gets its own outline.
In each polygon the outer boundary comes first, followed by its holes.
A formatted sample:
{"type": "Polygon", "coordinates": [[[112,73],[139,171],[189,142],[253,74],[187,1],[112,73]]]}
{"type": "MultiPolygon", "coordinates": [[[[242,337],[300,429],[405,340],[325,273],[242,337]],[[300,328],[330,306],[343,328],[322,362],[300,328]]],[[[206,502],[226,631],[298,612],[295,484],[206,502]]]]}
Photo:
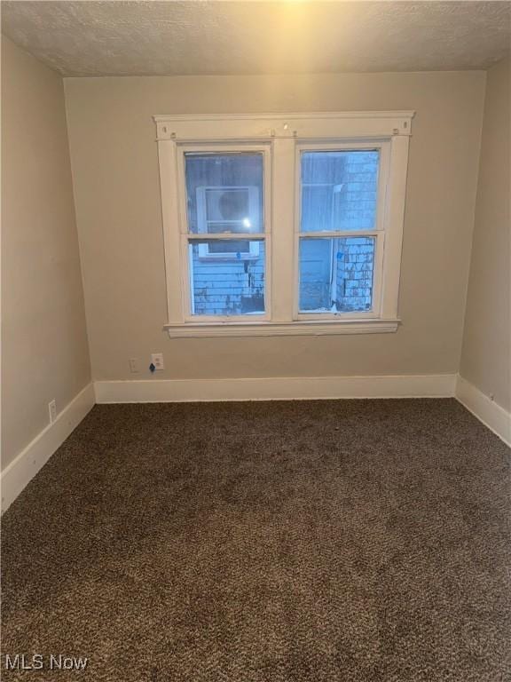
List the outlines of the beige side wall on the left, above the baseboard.
{"type": "Polygon", "coordinates": [[[90,381],[62,79],[2,40],[2,466],[90,381]]]}

